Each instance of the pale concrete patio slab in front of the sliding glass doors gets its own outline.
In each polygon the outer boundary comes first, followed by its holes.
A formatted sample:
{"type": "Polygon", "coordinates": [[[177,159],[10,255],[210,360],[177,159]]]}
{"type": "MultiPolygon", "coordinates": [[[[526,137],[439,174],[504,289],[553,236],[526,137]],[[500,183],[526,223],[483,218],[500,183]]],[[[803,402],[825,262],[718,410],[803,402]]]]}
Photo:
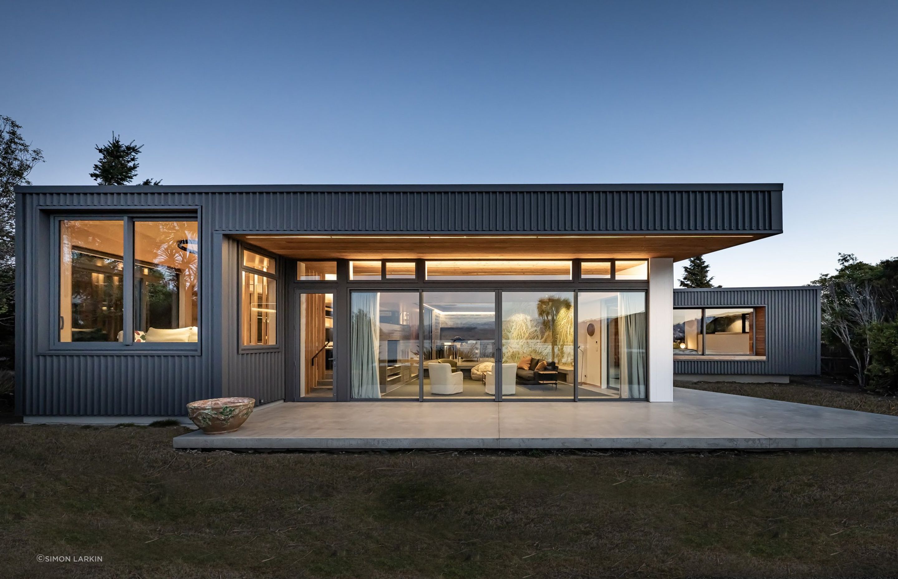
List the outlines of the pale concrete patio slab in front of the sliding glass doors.
{"type": "Polygon", "coordinates": [[[674,388],[673,403],[285,403],[176,449],[894,449],[898,416],[674,388]]]}

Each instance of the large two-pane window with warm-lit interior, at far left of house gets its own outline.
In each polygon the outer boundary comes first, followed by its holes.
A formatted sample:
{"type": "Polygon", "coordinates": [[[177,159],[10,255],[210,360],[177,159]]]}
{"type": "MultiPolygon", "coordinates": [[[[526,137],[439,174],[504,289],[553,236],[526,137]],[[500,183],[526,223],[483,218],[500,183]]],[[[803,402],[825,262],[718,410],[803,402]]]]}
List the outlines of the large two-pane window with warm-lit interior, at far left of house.
{"type": "Polygon", "coordinates": [[[59,342],[197,343],[198,234],[196,219],[61,220],[59,342]]]}

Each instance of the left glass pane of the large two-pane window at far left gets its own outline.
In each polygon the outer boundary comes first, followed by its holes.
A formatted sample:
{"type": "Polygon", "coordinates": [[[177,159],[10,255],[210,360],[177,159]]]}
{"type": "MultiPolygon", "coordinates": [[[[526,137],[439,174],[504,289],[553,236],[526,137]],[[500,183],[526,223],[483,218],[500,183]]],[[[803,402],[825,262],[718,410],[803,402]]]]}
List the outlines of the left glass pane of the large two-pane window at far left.
{"type": "Polygon", "coordinates": [[[60,342],[121,339],[124,231],[120,219],[60,223],[60,342]]]}

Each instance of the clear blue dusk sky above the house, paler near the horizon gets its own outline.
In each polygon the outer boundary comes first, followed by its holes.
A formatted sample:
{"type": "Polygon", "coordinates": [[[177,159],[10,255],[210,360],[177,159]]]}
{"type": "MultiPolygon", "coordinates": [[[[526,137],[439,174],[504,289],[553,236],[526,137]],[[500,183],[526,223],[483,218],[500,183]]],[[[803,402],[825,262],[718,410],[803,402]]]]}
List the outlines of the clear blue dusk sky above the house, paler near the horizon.
{"type": "Polygon", "coordinates": [[[898,255],[898,2],[5,3],[0,113],[87,184],[785,183],[725,286],[898,255]]]}

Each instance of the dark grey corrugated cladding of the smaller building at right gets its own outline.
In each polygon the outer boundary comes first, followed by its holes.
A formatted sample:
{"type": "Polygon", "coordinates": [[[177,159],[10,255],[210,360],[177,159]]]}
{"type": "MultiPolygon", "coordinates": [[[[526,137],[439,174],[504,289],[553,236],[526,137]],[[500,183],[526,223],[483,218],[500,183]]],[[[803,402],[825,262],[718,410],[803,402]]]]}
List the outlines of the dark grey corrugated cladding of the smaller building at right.
{"type": "Polygon", "coordinates": [[[674,307],[766,307],[766,361],[677,360],[676,374],[820,373],[820,288],[674,290],[674,307]]]}

